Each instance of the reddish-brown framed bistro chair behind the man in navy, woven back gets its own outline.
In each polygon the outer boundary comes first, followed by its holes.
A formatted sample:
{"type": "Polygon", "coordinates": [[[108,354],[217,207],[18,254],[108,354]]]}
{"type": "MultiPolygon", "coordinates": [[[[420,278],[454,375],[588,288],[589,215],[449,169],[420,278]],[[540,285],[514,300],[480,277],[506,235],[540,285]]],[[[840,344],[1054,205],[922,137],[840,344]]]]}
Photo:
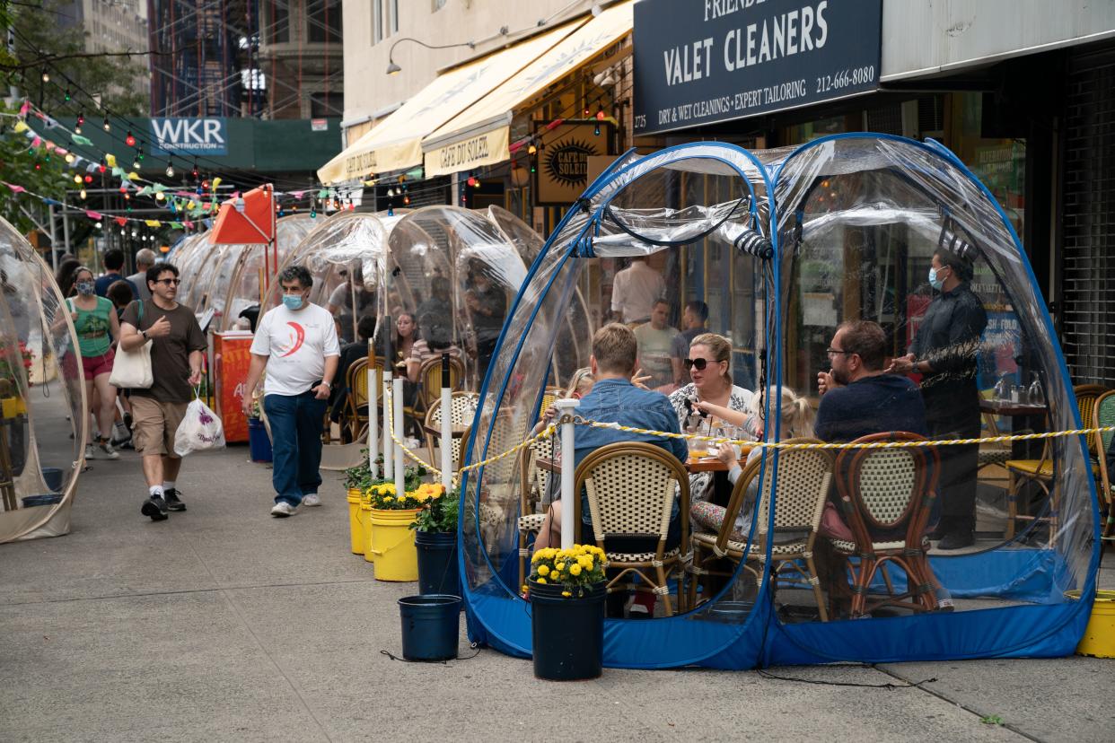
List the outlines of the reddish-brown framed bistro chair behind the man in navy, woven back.
{"type": "MultiPolygon", "coordinates": [[[[928,441],[915,433],[874,433],[853,443],[873,441],[928,441]]],[[[880,606],[898,606],[914,612],[938,608],[938,586],[925,557],[929,539],[925,526],[935,498],[940,469],[937,448],[844,449],[836,458],[836,486],[845,520],[855,541],[830,539],[838,556],[849,560],[852,574],[853,618],[880,606]],[[876,538],[876,534],[892,536],[876,538]],[[906,590],[894,594],[888,563],[906,574],[906,590]],[[867,603],[867,589],[882,570],[889,595],[867,603]]]]}

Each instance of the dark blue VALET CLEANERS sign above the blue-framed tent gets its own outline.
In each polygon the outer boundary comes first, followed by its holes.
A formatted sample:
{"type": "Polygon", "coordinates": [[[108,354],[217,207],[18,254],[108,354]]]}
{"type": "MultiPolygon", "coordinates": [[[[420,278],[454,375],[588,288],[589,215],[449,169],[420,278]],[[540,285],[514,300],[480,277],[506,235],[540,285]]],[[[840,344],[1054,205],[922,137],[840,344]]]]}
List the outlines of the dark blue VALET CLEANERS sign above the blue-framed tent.
{"type": "Polygon", "coordinates": [[[641,0],[634,131],[797,108],[879,87],[882,0],[641,0]]]}

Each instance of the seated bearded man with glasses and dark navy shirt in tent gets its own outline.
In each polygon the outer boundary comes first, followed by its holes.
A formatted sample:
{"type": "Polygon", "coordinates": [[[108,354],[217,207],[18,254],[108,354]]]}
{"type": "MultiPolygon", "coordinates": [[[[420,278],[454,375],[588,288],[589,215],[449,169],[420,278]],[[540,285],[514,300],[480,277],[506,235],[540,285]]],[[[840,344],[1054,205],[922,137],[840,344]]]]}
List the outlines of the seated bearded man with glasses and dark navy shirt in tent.
{"type": "Polygon", "coordinates": [[[823,441],[853,441],[869,433],[925,436],[925,405],[918,385],[883,371],[886,333],[870,320],[836,329],[828,346],[832,370],[817,374],[821,404],[814,431],[823,441]]]}

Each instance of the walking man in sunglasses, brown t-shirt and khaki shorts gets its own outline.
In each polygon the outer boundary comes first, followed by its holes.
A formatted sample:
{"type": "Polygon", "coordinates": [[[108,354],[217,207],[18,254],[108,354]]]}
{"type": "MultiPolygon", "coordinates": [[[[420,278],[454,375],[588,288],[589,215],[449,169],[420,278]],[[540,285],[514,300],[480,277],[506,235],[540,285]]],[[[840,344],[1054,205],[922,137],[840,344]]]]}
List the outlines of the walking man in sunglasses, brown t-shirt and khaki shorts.
{"type": "Polygon", "coordinates": [[[156,263],[147,271],[151,300],[133,302],[124,311],[120,348],[135,351],[151,342],[154,383],[132,390],[132,438],[143,456],[147,500],[139,512],[162,521],[167,511],[184,511],[177,488],[182,458],[174,453],[174,434],[202,379],[205,334],[194,311],[178,304],[178,270],[156,263]]]}

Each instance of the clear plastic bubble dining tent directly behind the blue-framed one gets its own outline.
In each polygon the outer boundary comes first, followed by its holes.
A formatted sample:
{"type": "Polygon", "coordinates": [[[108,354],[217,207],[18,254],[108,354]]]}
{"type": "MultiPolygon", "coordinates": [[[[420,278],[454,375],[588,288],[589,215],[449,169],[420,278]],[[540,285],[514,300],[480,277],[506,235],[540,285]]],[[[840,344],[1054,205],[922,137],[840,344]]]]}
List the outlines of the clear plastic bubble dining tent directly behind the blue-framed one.
{"type": "MultiPolygon", "coordinates": [[[[492,345],[503,324],[502,313],[489,335],[478,327],[477,314],[468,306],[474,283],[485,282],[495,303],[510,305],[526,277],[527,266],[542,250],[543,241],[530,226],[496,206],[466,209],[456,206],[425,206],[392,209],[390,213],[342,212],[322,221],[280,264],[302,265],[310,271],[313,287],[310,301],[329,304],[334,290],[349,286],[336,311],[342,320],[342,335],[357,336],[356,325],[368,313],[377,316],[376,338],[387,332],[384,321],[400,313],[415,320],[419,334],[423,315],[444,326],[447,338],[462,350],[468,390],[479,389],[483,342],[492,345]],[[349,282],[350,272],[361,285],[349,282]],[[370,303],[365,297],[374,295],[370,303]]],[[[263,310],[277,306],[282,292],[271,287],[263,310]]],[[[231,313],[230,313],[231,314],[231,313]]],[[[491,325],[492,323],[489,323],[491,325]]],[[[553,363],[555,378],[568,378],[588,364],[591,336],[588,311],[580,293],[563,324],[559,342],[563,353],[553,363]]],[[[382,355],[382,346],[377,355],[382,355]]],[[[392,354],[395,351],[392,350],[392,354]]]]}

